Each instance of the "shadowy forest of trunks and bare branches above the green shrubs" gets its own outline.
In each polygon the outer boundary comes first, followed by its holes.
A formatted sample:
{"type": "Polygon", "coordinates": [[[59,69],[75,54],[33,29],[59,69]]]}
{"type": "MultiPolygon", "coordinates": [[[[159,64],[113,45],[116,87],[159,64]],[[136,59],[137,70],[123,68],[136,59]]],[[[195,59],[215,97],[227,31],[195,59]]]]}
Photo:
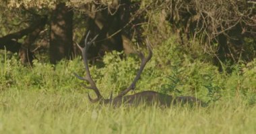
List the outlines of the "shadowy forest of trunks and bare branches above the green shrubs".
{"type": "Polygon", "coordinates": [[[218,66],[250,62],[256,56],[254,1],[30,1],[0,3],[0,49],[56,64],[77,56],[75,44],[99,35],[91,60],[117,50],[131,54],[145,38],[159,46],[178,36],[183,52],[218,66]]]}

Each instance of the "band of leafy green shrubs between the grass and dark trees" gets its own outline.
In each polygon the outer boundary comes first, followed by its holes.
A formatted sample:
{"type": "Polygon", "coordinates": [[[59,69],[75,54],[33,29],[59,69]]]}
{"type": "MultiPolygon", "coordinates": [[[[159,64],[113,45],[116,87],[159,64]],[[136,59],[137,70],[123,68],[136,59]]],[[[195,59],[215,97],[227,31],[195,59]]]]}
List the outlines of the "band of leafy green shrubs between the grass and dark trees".
{"type": "MultiPolygon", "coordinates": [[[[255,61],[246,66],[234,66],[232,74],[225,74],[207,62],[193,60],[191,55],[183,53],[183,46],[174,40],[176,39],[172,37],[154,48],[154,56],[143,70],[135,92],[156,90],[174,96],[197,96],[207,102],[226,100],[237,95],[253,98],[256,88],[255,61]]],[[[92,77],[104,96],[108,96],[112,91],[117,93],[127,88],[139,68],[140,61],[137,56],[121,57],[125,56],[120,52],[108,53],[103,58],[103,64],[90,66],[92,77]]],[[[9,60],[5,56],[1,62],[0,87],[1,90],[26,87],[51,92],[82,89],[73,72],[84,73],[84,65],[79,58],[72,61],[63,60],[55,66],[35,60],[33,68],[24,68],[15,60],[15,56],[9,60]]],[[[80,91],[88,92],[84,89],[80,91]]]]}

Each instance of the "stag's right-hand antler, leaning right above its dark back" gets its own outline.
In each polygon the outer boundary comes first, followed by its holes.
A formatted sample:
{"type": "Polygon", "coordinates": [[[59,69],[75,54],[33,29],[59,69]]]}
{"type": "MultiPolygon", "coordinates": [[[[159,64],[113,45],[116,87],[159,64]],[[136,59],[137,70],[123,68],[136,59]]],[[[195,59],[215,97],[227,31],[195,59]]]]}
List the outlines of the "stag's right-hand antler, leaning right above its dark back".
{"type": "Polygon", "coordinates": [[[146,45],[149,50],[148,56],[145,58],[145,56],[141,52],[139,52],[139,56],[141,57],[141,65],[140,65],[139,70],[137,71],[135,78],[134,78],[133,82],[131,83],[131,85],[127,89],[123,90],[123,92],[120,92],[116,96],[116,98],[124,96],[125,94],[127,94],[127,92],[129,92],[130,90],[135,88],[135,84],[139,80],[139,77],[140,77],[144,67],[146,66],[147,62],[152,58],[153,52],[152,52],[152,48],[151,48],[148,38],[146,39],[146,45]]]}

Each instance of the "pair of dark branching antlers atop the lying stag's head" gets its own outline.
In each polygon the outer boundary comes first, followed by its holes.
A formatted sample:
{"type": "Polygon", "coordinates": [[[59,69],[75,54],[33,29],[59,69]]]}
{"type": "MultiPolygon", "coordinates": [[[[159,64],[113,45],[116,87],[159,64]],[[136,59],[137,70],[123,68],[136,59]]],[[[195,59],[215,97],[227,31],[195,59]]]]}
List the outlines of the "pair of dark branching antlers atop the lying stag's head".
{"type": "MultiPolygon", "coordinates": [[[[86,39],[85,39],[85,42],[84,42],[84,44],[85,44],[84,47],[79,46],[79,44],[77,44],[79,50],[81,50],[81,52],[82,52],[82,57],[83,57],[83,60],[84,60],[84,66],[86,68],[86,76],[82,77],[82,76],[78,76],[75,73],[74,74],[80,80],[84,80],[84,81],[89,82],[90,86],[86,86],[84,84],[83,84],[83,86],[88,88],[88,89],[90,89],[90,90],[94,90],[94,92],[96,93],[96,98],[94,98],[94,99],[90,97],[90,94],[88,94],[88,98],[89,98],[90,102],[92,102],[92,103],[96,103],[96,102],[99,102],[99,103],[112,103],[113,100],[117,100],[117,98],[122,98],[130,90],[134,90],[135,84],[139,80],[139,77],[140,77],[144,67],[146,66],[147,62],[152,58],[152,48],[150,46],[150,42],[148,40],[146,40],[146,45],[147,45],[148,50],[149,50],[149,54],[148,54],[147,57],[145,57],[141,52],[137,52],[137,54],[141,58],[141,65],[140,65],[139,70],[137,71],[137,74],[136,74],[133,82],[131,82],[131,84],[125,90],[123,90],[117,96],[115,96],[115,98],[113,98],[113,94],[112,93],[110,94],[110,98],[103,98],[102,94],[100,94],[100,91],[98,90],[98,88],[96,86],[96,83],[92,79],[92,76],[91,76],[90,70],[89,70],[89,66],[88,66],[88,58],[87,58],[88,48],[90,48],[90,46],[94,43],[94,41],[96,40],[98,35],[95,36],[92,40],[88,41],[89,35],[90,35],[90,31],[88,31],[88,34],[86,35],[86,39]]],[[[120,99],[118,99],[118,100],[120,100],[120,99]]]]}

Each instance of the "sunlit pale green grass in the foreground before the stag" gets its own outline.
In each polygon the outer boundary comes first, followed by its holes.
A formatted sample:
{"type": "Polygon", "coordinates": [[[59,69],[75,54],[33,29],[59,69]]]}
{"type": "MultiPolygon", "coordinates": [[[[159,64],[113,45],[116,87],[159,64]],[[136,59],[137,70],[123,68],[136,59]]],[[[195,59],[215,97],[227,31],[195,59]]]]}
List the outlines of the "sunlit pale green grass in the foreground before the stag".
{"type": "Polygon", "coordinates": [[[256,107],[243,101],[206,108],[119,107],[85,94],[1,92],[0,133],[255,133],[256,107]]]}

